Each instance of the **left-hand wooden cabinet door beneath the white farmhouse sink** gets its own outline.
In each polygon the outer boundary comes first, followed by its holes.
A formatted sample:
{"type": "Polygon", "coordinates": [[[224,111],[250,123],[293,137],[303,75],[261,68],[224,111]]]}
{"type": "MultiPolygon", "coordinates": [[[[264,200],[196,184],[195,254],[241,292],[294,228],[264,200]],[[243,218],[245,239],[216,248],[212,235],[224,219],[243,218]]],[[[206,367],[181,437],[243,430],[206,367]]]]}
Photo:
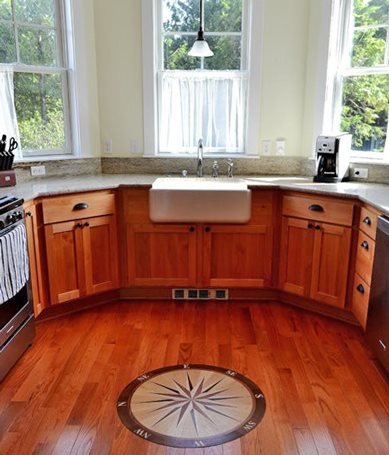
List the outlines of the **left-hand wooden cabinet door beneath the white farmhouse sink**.
{"type": "Polygon", "coordinates": [[[196,226],[128,224],[128,285],[196,285],[196,226]]]}

